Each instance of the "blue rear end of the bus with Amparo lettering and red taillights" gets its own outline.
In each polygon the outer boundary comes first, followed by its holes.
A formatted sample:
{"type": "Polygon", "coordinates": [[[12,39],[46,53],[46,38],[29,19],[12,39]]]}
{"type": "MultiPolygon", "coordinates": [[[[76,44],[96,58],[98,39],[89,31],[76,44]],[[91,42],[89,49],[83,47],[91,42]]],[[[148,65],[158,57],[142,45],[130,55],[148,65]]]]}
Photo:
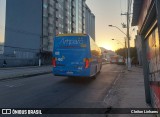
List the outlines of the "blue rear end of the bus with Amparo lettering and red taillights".
{"type": "Polygon", "coordinates": [[[53,49],[53,74],[89,76],[90,51],[87,35],[56,36],[53,49]]]}

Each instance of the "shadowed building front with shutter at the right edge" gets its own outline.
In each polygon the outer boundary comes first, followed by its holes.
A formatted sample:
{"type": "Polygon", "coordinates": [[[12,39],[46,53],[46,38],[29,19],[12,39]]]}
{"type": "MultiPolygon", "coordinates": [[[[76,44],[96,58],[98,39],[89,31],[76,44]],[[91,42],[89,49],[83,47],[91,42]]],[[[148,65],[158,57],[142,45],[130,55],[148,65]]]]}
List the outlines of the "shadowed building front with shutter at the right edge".
{"type": "Polygon", "coordinates": [[[142,42],[146,102],[160,109],[160,1],[134,0],[132,26],[142,42]]]}

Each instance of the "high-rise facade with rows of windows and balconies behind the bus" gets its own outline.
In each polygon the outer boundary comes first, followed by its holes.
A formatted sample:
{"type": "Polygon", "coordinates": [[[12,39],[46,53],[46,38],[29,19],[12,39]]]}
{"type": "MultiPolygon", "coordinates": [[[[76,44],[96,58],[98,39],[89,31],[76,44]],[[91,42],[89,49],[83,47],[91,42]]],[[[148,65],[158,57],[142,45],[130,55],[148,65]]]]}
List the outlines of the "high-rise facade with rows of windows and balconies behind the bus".
{"type": "Polygon", "coordinates": [[[85,0],[44,0],[43,13],[44,51],[52,51],[56,34],[85,33],[85,0]]]}

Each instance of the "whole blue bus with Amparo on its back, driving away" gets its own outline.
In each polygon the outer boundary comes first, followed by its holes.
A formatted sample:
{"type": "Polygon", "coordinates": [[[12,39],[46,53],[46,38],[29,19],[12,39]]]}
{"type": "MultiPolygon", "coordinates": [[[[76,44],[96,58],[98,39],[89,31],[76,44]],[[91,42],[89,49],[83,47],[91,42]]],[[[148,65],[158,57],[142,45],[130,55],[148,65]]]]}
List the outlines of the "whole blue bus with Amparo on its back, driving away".
{"type": "Polygon", "coordinates": [[[102,68],[101,49],[87,34],[59,34],[54,38],[53,74],[95,78],[102,68]]]}

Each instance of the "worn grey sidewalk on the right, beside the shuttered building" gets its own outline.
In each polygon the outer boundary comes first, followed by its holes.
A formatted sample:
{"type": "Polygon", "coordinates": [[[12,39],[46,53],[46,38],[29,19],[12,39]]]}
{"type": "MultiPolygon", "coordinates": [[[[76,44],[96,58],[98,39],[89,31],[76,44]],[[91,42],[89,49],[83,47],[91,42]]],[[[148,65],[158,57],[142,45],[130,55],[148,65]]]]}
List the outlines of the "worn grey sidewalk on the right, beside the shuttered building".
{"type": "MultiPolygon", "coordinates": [[[[115,81],[105,98],[105,103],[112,108],[150,108],[145,102],[143,69],[132,67],[131,71],[124,72],[115,81]]],[[[155,117],[152,114],[120,114],[109,117],[155,117]]]]}

